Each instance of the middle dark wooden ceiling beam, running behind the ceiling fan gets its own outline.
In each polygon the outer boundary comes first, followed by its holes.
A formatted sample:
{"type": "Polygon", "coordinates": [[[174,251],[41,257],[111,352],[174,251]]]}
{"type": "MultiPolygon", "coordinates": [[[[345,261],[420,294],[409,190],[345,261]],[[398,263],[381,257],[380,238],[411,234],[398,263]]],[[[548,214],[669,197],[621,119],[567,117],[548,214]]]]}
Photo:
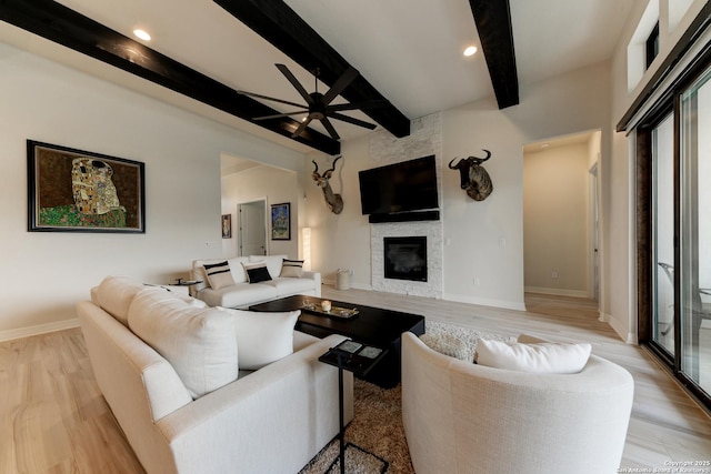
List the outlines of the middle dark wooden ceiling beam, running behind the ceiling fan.
{"type": "MultiPolygon", "coordinates": [[[[319,80],[332,85],[350,64],[282,0],[214,0],[230,14],[269,41],[319,80]]],[[[350,103],[387,100],[362,75],[340,94],[350,103]]],[[[398,138],[410,134],[410,119],[395,107],[363,109],[363,113],[398,138]]]]}

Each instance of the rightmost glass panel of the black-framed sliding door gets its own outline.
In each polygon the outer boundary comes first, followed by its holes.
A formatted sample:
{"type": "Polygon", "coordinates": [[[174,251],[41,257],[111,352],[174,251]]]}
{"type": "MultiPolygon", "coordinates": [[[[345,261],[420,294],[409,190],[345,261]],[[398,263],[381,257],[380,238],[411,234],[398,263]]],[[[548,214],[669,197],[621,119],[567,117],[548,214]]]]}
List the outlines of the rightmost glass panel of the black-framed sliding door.
{"type": "Polygon", "coordinates": [[[680,371],[711,394],[711,70],[680,99],[680,371]]]}

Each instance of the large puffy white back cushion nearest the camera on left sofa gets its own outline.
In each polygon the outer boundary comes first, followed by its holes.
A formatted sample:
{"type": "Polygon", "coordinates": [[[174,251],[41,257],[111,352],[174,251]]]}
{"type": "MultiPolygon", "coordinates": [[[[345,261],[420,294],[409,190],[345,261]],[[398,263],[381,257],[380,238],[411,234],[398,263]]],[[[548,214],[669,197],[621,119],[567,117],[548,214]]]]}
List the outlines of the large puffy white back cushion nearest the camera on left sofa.
{"type": "Polygon", "coordinates": [[[129,327],[166,357],[193,399],[237,380],[234,320],[147,289],[129,307],[129,327]]]}

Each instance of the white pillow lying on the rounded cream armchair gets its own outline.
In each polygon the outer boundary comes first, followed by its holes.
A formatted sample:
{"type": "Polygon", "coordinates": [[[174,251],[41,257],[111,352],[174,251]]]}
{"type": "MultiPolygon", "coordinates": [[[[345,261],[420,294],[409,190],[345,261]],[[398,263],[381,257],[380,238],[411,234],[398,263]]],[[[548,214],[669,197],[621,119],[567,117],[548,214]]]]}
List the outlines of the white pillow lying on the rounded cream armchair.
{"type": "Polygon", "coordinates": [[[540,374],[574,374],[585,366],[590,344],[544,342],[522,344],[480,339],[474,362],[495,369],[540,374]]]}

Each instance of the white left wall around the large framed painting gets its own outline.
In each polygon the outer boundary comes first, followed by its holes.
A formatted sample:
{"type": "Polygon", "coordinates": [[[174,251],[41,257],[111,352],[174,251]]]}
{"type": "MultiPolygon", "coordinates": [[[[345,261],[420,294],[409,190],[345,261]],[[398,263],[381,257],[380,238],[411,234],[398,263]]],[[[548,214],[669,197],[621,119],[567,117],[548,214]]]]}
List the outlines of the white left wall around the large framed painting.
{"type": "Polygon", "coordinates": [[[302,161],[4,43],[0,70],[0,339],[73,324],[74,303],[108,274],[169,283],[221,256],[220,153],[302,161]],[[146,234],[28,232],[27,139],[144,162],[146,234]]]}

